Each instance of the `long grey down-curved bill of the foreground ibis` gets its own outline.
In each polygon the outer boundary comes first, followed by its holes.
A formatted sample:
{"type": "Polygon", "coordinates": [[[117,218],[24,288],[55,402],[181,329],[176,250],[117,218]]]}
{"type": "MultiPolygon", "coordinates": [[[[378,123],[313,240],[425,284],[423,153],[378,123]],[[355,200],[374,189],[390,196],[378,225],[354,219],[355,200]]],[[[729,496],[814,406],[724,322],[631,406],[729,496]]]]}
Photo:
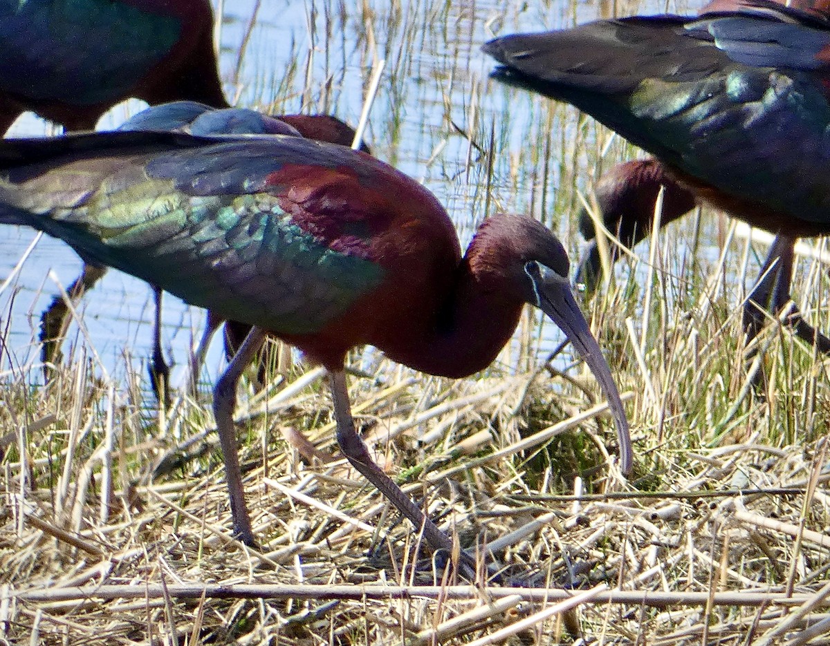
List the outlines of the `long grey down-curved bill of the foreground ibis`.
{"type": "Polygon", "coordinates": [[[559,276],[553,270],[540,268],[540,280],[535,280],[539,308],[556,323],[574,344],[577,352],[588,364],[603,389],[608,406],[617,426],[617,436],[620,451],[620,470],[629,474],[632,468],[631,435],[628,432],[628,420],[623,410],[623,401],[620,399],[617,385],[611,376],[611,369],[599,349],[599,344],[588,321],[585,320],[579,305],[574,299],[574,292],[566,278],[559,276]]]}

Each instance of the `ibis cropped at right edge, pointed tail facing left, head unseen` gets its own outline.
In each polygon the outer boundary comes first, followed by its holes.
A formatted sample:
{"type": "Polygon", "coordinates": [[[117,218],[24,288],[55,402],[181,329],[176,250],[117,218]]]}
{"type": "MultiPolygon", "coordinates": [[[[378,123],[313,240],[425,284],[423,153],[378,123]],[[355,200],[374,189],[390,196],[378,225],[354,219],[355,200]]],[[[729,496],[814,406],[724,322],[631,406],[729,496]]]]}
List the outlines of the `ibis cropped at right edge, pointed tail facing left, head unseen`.
{"type": "Polygon", "coordinates": [[[779,236],[764,265],[779,270],[751,299],[781,308],[793,238],[830,232],[825,47],[825,14],[756,0],[701,17],[504,36],[485,51],[503,64],[498,80],[574,104],[655,155],[658,172],[694,199],[779,236]]]}

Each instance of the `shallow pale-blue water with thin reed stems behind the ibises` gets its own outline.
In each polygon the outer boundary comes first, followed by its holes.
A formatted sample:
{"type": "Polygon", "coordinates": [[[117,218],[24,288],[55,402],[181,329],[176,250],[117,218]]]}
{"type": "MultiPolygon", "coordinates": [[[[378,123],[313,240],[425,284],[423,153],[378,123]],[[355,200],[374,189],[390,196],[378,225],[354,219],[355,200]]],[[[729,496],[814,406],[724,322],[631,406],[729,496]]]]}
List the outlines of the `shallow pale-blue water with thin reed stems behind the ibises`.
{"type": "MultiPolygon", "coordinates": [[[[240,105],[274,113],[330,112],[357,124],[372,62],[385,57],[387,66],[365,136],[378,158],[424,182],[437,195],[457,223],[463,245],[487,211],[522,211],[552,226],[575,258],[580,239],[574,186],[585,191],[588,178],[600,172],[596,155],[608,135],[596,141],[593,123],[578,126],[579,115],[573,109],[491,84],[487,74],[493,64],[480,46],[500,33],[608,16],[610,5],[527,4],[355,2],[371,7],[364,15],[345,2],[264,0],[252,22],[254,2],[226,2],[221,30],[226,93],[240,105]],[[251,24],[242,64],[237,65],[251,24]],[[488,193],[486,158],[476,146],[487,149],[491,139],[496,141],[497,158],[488,193]]],[[[665,9],[657,3],[632,4],[618,7],[618,13],[665,9]]],[[[112,128],[140,107],[137,101],[117,106],[100,127],[112,128]]],[[[41,134],[51,134],[50,127],[31,116],[20,119],[12,132],[41,134]]],[[[624,148],[615,141],[603,165],[608,168],[624,148]]],[[[2,227],[0,283],[34,236],[28,229],[2,227]]],[[[710,255],[716,255],[714,246],[710,255]]],[[[9,352],[0,371],[37,365],[40,315],[56,293],[51,275],[66,287],[80,268],[80,260],[63,243],[46,237],[38,242],[17,279],[0,294],[0,323],[5,327],[9,322],[9,352]]],[[[80,305],[90,343],[116,379],[124,375],[125,348],[132,365],[144,373],[139,364],[149,354],[152,305],[152,293],[144,283],[116,271],[110,271],[80,305]]],[[[172,296],[164,299],[163,315],[164,348],[175,364],[175,385],[183,377],[188,347],[201,333],[204,316],[172,296]]],[[[73,324],[64,352],[72,352],[81,336],[73,324]]],[[[545,327],[540,337],[542,351],[561,340],[553,326],[545,327]]],[[[222,363],[219,346],[214,343],[208,357],[211,381],[222,363]]],[[[33,370],[30,378],[39,375],[33,370]]]]}

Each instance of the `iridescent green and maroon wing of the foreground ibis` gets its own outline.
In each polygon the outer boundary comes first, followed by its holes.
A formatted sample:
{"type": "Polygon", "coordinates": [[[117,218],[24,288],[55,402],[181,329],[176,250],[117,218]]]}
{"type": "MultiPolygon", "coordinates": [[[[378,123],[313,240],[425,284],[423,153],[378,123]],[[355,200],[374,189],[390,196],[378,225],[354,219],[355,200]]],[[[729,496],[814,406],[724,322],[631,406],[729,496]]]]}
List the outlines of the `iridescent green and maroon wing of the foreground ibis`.
{"type": "Polygon", "coordinates": [[[142,135],[74,138],[58,145],[90,150],[54,158],[48,142],[0,143],[0,222],[278,333],[320,330],[383,280],[372,248],[388,215],[373,183],[382,163],[294,137],[125,145],[142,135]]]}

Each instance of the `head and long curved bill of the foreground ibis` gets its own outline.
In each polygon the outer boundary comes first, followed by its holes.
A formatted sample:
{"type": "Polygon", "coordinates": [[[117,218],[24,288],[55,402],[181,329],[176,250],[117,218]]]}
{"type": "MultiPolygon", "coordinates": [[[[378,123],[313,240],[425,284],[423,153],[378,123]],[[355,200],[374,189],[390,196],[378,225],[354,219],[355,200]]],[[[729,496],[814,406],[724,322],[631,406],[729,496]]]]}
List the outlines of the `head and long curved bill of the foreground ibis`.
{"type": "Polygon", "coordinates": [[[486,240],[488,252],[481,254],[485,258],[474,260],[476,274],[492,271],[505,276],[515,293],[540,308],[574,344],[608,399],[617,426],[620,468],[624,474],[629,473],[632,448],[623,401],[608,362],[574,299],[570,263],[562,243],[540,222],[512,215],[485,221],[476,234],[476,240],[482,239],[486,240]]]}

